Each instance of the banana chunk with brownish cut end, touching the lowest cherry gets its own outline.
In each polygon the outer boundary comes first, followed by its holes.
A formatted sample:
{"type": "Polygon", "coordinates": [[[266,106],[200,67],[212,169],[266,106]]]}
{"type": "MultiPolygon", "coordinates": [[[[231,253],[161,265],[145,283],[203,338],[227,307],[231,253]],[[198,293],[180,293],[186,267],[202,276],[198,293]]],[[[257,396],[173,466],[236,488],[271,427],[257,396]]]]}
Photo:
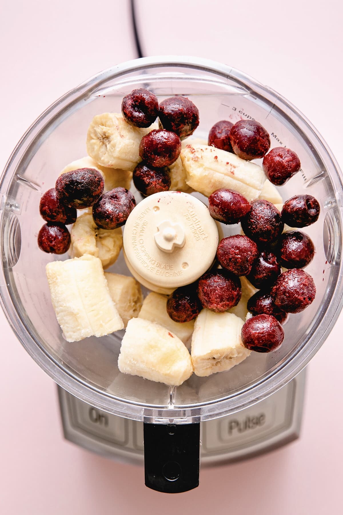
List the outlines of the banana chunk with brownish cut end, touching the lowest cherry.
{"type": "Polygon", "coordinates": [[[230,370],[250,352],[241,340],[243,320],[233,313],[203,310],[195,321],[191,357],[194,373],[201,377],[230,370]]]}

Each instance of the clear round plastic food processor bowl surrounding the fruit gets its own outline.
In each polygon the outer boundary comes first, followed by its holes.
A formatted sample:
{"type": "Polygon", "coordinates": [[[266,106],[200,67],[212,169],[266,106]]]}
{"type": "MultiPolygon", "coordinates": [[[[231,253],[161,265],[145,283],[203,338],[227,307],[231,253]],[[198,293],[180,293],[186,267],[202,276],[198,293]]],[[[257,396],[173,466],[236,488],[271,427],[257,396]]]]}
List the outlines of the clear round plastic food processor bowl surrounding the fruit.
{"type": "MultiPolygon", "coordinates": [[[[247,407],[282,387],[310,361],[341,309],[342,183],[335,159],[299,111],[229,66],[164,56],[120,64],[89,79],[29,128],[8,161],[0,192],[0,289],[8,321],[25,349],[59,385],[110,413],[145,422],[189,423],[247,407]],[[280,188],[283,199],[308,193],[321,204],[319,220],[305,229],[316,246],[306,271],[315,280],[317,296],[307,310],[288,318],[281,348],[252,353],[228,372],[193,374],[174,389],[119,372],[122,332],[71,344],[63,339],[45,265],[66,256],[45,254],[37,246],[42,193],[55,185],[67,163],[86,155],[86,131],[93,116],[120,112],[122,96],[138,87],[153,90],[160,100],[175,94],[191,98],[200,110],[194,136],[207,138],[209,128],[221,119],[257,119],[271,135],[272,147],[292,148],[302,163],[301,172],[280,188]]],[[[122,254],[110,270],[128,274],[122,254]]]]}

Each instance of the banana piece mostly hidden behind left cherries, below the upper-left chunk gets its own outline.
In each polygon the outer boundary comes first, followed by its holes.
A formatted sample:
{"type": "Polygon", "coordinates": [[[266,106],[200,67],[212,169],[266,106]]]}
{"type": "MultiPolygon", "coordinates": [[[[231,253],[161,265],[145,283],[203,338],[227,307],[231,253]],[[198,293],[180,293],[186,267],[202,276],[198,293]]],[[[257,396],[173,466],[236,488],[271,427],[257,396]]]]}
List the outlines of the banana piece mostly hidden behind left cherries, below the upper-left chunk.
{"type": "Polygon", "coordinates": [[[130,190],[132,179],[131,171],[120,170],[116,168],[106,168],[105,166],[101,166],[96,163],[89,156],[77,159],[76,161],[67,164],[67,166],[65,166],[61,171],[60,175],[66,174],[68,171],[77,170],[78,168],[95,168],[96,170],[100,171],[100,174],[102,175],[105,182],[104,191],[113,190],[113,188],[117,188],[118,186],[130,190]]]}

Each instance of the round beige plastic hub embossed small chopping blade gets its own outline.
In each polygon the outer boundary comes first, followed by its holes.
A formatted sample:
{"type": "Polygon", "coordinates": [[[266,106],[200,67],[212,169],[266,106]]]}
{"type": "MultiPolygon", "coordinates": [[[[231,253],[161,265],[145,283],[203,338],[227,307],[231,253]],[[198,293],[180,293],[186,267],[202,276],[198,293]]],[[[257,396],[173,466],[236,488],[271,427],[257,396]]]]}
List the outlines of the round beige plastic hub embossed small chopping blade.
{"type": "Polygon", "coordinates": [[[205,204],[188,193],[155,193],[139,202],[124,226],[127,261],[152,285],[190,284],[212,265],[218,229],[205,204]]]}

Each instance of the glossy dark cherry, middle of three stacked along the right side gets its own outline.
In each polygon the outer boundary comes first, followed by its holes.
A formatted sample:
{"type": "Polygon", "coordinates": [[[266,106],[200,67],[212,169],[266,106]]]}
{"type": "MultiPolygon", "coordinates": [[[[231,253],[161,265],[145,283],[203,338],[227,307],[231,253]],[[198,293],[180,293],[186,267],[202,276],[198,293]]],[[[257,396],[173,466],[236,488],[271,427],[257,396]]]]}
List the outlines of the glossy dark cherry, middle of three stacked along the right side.
{"type": "Polygon", "coordinates": [[[280,236],[278,252],[284,268],[304,268],[314,258],[314,245],[307,234],[287,231],[280,236]]]}

